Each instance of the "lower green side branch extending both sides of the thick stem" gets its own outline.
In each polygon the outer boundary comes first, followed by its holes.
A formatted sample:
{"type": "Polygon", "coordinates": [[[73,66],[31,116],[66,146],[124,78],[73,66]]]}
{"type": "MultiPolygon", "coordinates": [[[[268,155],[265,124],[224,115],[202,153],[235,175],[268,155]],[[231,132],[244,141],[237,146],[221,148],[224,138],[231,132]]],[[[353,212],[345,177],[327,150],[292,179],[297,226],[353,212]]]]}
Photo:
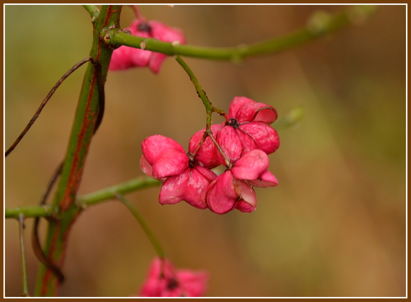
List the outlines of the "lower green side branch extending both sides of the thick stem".
{"type": "MultiPolygon", "coordinates": [[[[115,194],[127,194],[145,188],[161,185],[160,181],[148,176],[133,178],[124,183],[119,183],[83,196],[77,197],[76,204],[80,209],[98,204],[102,201],[115,199],[115,194]]],[[[5,218],[18,219],[19,215],[27,217],[51,217],[56,214],[52,206],[22,206],[18,208],[5,209],[5,218]]]]}

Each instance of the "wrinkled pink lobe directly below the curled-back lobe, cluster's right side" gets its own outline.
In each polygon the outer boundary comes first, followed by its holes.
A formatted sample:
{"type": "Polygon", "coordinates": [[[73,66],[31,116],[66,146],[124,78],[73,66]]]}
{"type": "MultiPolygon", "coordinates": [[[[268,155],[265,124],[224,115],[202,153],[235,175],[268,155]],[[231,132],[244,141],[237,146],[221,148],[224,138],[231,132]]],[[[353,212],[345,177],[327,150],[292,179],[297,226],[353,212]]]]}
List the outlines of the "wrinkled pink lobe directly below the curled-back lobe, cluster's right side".
{"type": "Polygon", "coordinates": [[[271,154],[280,146],[280,140],[274,128],[261,121],[241,124],[239,129],[254,139],[258,149],[271,154]]]}

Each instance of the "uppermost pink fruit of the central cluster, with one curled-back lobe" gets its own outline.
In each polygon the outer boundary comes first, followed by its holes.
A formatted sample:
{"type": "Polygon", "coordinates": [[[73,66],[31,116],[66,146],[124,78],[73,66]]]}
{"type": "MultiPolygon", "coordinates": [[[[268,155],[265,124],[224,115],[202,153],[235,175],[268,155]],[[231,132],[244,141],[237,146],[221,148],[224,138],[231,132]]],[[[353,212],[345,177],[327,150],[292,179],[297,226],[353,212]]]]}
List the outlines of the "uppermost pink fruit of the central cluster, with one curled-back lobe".
{"type": "MultiPolygon", "coordinates": [[[[278,116],[275,108],[244,96],[236,96],[231,102],[229,116],[229,122],[213,125],[211,131],[230,162],[236,162],[243,154],[254,149],[267,154],[278,149],[280,141],[277,131],[270,126],[278,116]]],[[[200,130],[192,136],[189,152],[197,148],[204,131],[200,130]]],[[[220,164],[226,165],[210,137],[205,139],[196,160],[210,169],[220,164]]]]}

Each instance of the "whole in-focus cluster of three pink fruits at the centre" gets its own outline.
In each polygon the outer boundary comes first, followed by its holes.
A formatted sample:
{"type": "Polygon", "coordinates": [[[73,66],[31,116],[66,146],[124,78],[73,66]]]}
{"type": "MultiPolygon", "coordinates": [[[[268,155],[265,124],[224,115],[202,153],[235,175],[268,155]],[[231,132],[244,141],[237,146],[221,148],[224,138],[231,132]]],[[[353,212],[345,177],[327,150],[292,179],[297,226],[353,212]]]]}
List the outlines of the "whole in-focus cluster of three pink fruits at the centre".
{"type": "Polygon", "coordinates": [[[204,131],[195,133],[186,154],[180,144],[162,135],[147,137],[141,144],[143,172],[162,182],[160,204],[188,204],[224,214],[233,209],[252,212],[257,206],[253,186],[274,187],[277,179],[269,172],[267,154],[279,147],[279,137],[270,124],[277,119],[270,105],[236,96],[229,109],[229,121],[211,126],[229,165],[207,137],[196,152],[204,131]],[[210,169],[225,165],[217,176],[210,169]]]}

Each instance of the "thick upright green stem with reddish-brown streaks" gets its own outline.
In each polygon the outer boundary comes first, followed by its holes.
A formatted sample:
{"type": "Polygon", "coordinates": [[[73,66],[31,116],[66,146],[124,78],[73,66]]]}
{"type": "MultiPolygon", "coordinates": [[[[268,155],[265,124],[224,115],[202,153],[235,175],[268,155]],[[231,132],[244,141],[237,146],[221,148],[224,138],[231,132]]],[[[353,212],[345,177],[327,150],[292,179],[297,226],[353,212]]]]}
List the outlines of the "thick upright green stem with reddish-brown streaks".
{"type": "MultiPolygon", "coordinates": [[[[103,29],[108,27],[119,27],[120,11],[121,6],[119,5],[103,5],[94,23],[90,56],[100,62],[103,82],[106,79],[113,50],[102,42],[100,34],[103,29]]],[[[99,90],[96,71],[92,64],[89,63],[83,79],[83,86],[74,117],[60,182],[53,201],[57,219],[51,220],[48,224],[44,247],[46,257],[51,259],[53,263],[56,263],[59,268],[63,264],[69,231],[80,212],[79,207],[76,206],[74,201],[83,175],[83,168],[93,135],[98,107],[99,90]]],[[[37,275],[35,295],[57,295],[58,285],[58,280],[51,270],[48,270],[41,264],[37,275]]]]}

